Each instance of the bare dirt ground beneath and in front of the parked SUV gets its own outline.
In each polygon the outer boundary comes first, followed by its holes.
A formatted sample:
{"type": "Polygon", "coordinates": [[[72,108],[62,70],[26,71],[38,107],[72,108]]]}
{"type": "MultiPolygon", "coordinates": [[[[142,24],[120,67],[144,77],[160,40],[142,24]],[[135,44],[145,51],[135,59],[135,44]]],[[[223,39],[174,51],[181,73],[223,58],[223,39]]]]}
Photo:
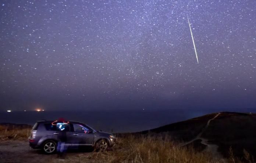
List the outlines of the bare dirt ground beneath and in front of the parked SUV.
{"type": "Polygon", "coordinates": [[[92,149],[69,150],[65,159],[58,159],[57,154],[45,155],[40,149],[29,147],[28,141],[0,141],[0,163],[80,163],[97,162],[91,159],[92,149]]]}

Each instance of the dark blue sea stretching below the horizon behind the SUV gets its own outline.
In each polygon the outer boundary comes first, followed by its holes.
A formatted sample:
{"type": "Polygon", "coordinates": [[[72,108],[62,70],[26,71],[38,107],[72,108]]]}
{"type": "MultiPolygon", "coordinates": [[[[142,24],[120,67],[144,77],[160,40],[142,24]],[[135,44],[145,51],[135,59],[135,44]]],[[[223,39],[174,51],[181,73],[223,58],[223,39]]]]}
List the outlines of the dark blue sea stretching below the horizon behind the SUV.
{"type": "Polygon", "coordinates": [[[33,125],[36,121],[64,118],[79,121],[95,130],[127,133],[154,129],[171,123],[216,112],[252,112],[256,109],[170,109],[170,110],[72,110],[72,111],[1,111],[0,123],[33,125]]]}

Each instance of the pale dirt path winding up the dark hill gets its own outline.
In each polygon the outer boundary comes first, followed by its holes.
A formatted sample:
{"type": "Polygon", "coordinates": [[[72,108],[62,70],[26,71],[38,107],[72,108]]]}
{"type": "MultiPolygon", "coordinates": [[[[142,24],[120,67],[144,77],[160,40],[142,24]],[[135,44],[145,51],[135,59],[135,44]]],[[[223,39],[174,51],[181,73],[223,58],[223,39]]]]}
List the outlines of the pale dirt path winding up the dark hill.
{"type": "Polygon", "coordinates": [[[202,138],[202,134],[205,132],[205,130],[209,127],[210,122],[212,120],[214,120],[215,118],[217,118],[221,113],[218,113],[216,116],[214,116],[213,118],[209,119],[209,121],[207,122],[206,126],[203,128],[203,130],[191,141],[188,142],[184,142],[182,143],[180,146],[185,146],[188,144],[191,144],[193,141],[195,140],[201,140],[201,144],[206,145],[206,149],[205,151],[211,152],[213,154],[214,157],[216,158],[223,158],[223,156],[220,155],[220,153],[217,151],[218,149],[218,145],[216,144],[209,144],[208,140],[206,138],[202,138]]]}

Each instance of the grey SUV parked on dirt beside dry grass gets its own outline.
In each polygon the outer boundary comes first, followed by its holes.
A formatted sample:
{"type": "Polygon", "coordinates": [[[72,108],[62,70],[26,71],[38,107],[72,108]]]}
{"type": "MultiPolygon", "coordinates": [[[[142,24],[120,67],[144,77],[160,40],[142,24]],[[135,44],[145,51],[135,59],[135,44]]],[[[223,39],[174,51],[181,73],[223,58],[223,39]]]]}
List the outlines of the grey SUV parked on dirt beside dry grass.
{"type": "Polygon", "coordinates": [[[29,146],[33,149],[41,148],[46,154],[54,153],[60,132],[65,132],[65,145],[68,147],[90,146],[97,151],[105,151],[113,147],[116,140],[113,134],[96,131],[81,122],[37,121],[29,136],[29,146]]]}

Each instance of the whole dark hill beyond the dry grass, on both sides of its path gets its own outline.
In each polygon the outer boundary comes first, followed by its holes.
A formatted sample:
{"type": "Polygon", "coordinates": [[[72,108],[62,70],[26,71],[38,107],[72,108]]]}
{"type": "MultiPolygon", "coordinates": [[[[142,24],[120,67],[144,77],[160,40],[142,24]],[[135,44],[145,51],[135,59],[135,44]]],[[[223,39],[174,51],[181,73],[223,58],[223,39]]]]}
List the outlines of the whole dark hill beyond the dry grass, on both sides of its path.
{"type": "MultiPolygon", "coordinates": [[[[139,132],[153,136],[168,135],[176,141],[190,141],[202,130],[202,138],[206,138],[210,144],[218,145],[218,152],[225,158],[230,155],[246,160],[245,155],[250,155],[250,160],[256,158],[256,114],[221,112],[216,119],[204,127],[216,114],[209,114],[187,121],[172,123],[156,129],[139,132]]],[[[195,140],[189,145],[196,151],[203,151],[205,146],[200,140],[195,140]]],[[[246,156],[248,159],[248,156],[246,156]]]]}

